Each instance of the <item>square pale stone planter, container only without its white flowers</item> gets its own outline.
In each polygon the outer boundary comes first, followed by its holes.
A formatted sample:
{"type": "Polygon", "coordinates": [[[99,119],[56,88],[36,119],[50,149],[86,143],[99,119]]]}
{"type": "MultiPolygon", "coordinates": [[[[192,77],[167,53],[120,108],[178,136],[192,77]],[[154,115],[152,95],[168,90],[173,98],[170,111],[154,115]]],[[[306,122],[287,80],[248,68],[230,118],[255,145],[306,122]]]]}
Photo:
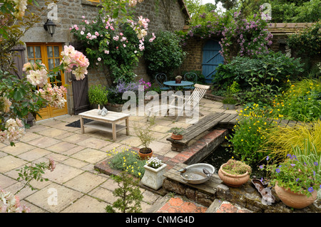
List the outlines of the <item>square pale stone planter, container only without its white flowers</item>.
{"type": "Polygon", "coordinates": [[[163,180],[165,179],[165,176],[163,176],[163,174],[165,174],[166,166],[167,164],[162,164],[158,169],[154,169],[152,167],[148,167],[148,165],[146,164],[144,166],[145,173],[143,178],[141,179],[141,183],[154,190],[160,189],[163,185],[163,180]]]}

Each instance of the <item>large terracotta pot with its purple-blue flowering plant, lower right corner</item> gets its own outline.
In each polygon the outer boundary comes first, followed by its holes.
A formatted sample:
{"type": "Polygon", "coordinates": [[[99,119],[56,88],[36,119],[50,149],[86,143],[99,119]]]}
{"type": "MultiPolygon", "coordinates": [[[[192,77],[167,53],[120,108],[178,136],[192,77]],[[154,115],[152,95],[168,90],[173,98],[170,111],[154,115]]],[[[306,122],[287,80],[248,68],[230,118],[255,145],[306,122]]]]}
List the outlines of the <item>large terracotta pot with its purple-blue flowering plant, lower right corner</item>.
{"type": "MultiPolygon", "coordinates": [[[[317,166],[315,162],[313,165],[317,166]]],[[[305,208],[317,198],[317,189],[321,187],[320,172],[295,155],[287,154],[287,159],[278,164],[260,167],[269,172],[270,184],[283,204],[292,208],[305,208]]]]}

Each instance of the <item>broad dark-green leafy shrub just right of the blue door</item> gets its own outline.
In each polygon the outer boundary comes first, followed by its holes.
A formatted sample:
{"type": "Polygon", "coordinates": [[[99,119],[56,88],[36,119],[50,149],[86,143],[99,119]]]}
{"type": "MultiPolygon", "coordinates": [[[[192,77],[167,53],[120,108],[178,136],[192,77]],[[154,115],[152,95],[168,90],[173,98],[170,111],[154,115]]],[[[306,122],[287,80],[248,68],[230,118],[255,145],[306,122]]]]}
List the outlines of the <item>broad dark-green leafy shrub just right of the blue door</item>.
{"type": "Polygon", "coordinates": [[[236,81],[242,90],[240,102],[269,104],[275,95],[295,80],[303,71],[300,58],[288,58],[284,54],[269,53],[255,58],[237,56],[228,64],[221,64],[213,78],[215,88],[226,90],[236,81]]]}

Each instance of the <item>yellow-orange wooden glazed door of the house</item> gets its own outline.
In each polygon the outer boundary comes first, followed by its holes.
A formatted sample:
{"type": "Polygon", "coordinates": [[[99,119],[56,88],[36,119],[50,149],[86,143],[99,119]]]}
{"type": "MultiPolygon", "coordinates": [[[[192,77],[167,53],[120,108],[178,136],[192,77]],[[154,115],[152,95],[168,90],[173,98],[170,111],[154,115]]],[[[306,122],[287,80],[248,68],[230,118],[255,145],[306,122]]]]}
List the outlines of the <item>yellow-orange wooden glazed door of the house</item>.
{"type": "MultiPolygon", "coordinates": [[[[41,62],[44,63],[46,68],[49,70],[60,64],[60,53],[62,51],[62,46],[59,43],[27,43],[26,48],[28,61],[30,63],[35,63],[36,60],[41,60],[41,62]]],[[[48,79],[49,83],[52,85],[56,84],[57,86],[64,85],[65,77],[63,73],[59,70],[56,75],[55,81],[50,81],[48,79]]],[[[39,111],[39,115],[41,115],[41,117],[37,116],[36,120],[44,120],[49,117],[65,115],[67,112],[67,103],[65,103],[65,107],[61,109],[48,105],[39,111]]]]}

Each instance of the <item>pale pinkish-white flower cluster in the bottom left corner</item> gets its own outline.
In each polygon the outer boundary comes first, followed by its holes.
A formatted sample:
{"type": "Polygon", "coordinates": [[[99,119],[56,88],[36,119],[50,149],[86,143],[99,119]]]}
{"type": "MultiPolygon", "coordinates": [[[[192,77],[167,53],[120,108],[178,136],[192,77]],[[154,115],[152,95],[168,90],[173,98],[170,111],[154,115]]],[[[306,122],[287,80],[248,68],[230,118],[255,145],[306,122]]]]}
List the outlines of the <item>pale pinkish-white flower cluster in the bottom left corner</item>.
{"type": "Polygon", "coordinates": [[[30,208],[21,206],[19,197],[0,189],[0,213],[29,213],[30,208]]]}

